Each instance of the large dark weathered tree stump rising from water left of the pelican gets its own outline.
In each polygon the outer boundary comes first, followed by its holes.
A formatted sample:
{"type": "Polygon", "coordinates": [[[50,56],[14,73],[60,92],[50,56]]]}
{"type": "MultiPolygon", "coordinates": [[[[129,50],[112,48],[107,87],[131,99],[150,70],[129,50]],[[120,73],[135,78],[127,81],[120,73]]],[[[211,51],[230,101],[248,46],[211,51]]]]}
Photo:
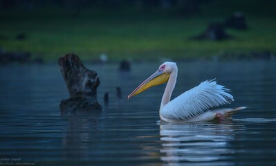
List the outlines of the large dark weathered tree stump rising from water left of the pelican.
{"type": "Polygon", "coordinates": [[[60,111],[88,113],[102,110],[97,100],[97,88],[100,85],[97,73],[87,69],[75,54],[60,57],[58,64],[70,94],[69,99],[60,102],[60,111]]]}

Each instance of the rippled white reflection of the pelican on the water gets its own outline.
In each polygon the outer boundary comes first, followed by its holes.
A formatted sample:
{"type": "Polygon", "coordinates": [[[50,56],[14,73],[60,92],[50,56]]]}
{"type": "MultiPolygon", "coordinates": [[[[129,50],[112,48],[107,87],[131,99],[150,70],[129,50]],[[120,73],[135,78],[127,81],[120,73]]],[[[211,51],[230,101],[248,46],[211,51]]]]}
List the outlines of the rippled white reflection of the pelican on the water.
{"type": "Polygon", "coordinates": [[[231,121],[223,122],[225,124],[219,125],[160,123],[160,140],[163,142],[160,159],[172,165],[183,162],[233,165],[234,149],[230,141],[234,140],[234,126],[231,121]]]}

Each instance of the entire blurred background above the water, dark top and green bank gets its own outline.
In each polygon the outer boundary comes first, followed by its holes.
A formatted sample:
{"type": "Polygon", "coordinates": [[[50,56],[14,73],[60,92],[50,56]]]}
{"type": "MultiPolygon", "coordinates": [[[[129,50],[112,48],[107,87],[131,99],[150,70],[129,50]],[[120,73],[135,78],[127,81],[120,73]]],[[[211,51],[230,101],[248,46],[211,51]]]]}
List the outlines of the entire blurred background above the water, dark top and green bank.
{"type": "MultiPolygon", "coordinates": [[[[109,59],[271,59],[275,0],[1,0],[1,53],[56,62],[66,53],[109,59]],[[241,13],[243,30],[227,39],[196,39],[211,23],[241,13]]],[[[1,59],[1,58],[0,58],[1,59]]]]}

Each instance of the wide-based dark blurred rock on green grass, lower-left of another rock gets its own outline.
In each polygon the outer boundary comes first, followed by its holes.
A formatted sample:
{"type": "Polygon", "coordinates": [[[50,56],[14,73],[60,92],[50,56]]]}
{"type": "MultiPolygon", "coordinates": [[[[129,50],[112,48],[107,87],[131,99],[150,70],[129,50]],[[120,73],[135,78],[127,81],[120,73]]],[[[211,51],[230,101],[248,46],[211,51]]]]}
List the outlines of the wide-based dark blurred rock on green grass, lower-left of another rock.
{"type": "Polygon", "coordinates": [[[232,38],[232,36],[226,33],[224,26],[221,23],[211,23],[203,34],[192,37],[192,39],[210,39],[212,41],[220,41],[230,38],[232,38]]]}

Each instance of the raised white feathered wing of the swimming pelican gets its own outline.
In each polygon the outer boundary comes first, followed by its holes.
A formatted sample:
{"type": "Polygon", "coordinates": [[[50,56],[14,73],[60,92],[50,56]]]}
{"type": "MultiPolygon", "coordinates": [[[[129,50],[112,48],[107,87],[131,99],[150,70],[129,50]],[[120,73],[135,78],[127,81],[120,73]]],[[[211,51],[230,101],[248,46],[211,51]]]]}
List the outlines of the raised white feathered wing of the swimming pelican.
{"type": "Polygon", "coordinates": [[[213,107],[233,102],[233,96],[228,91],[230,90],[214,80],[201,82],[199,86],[166,104],[160,113],[164,118],[171,120],[188,120],[213,107]]]}

